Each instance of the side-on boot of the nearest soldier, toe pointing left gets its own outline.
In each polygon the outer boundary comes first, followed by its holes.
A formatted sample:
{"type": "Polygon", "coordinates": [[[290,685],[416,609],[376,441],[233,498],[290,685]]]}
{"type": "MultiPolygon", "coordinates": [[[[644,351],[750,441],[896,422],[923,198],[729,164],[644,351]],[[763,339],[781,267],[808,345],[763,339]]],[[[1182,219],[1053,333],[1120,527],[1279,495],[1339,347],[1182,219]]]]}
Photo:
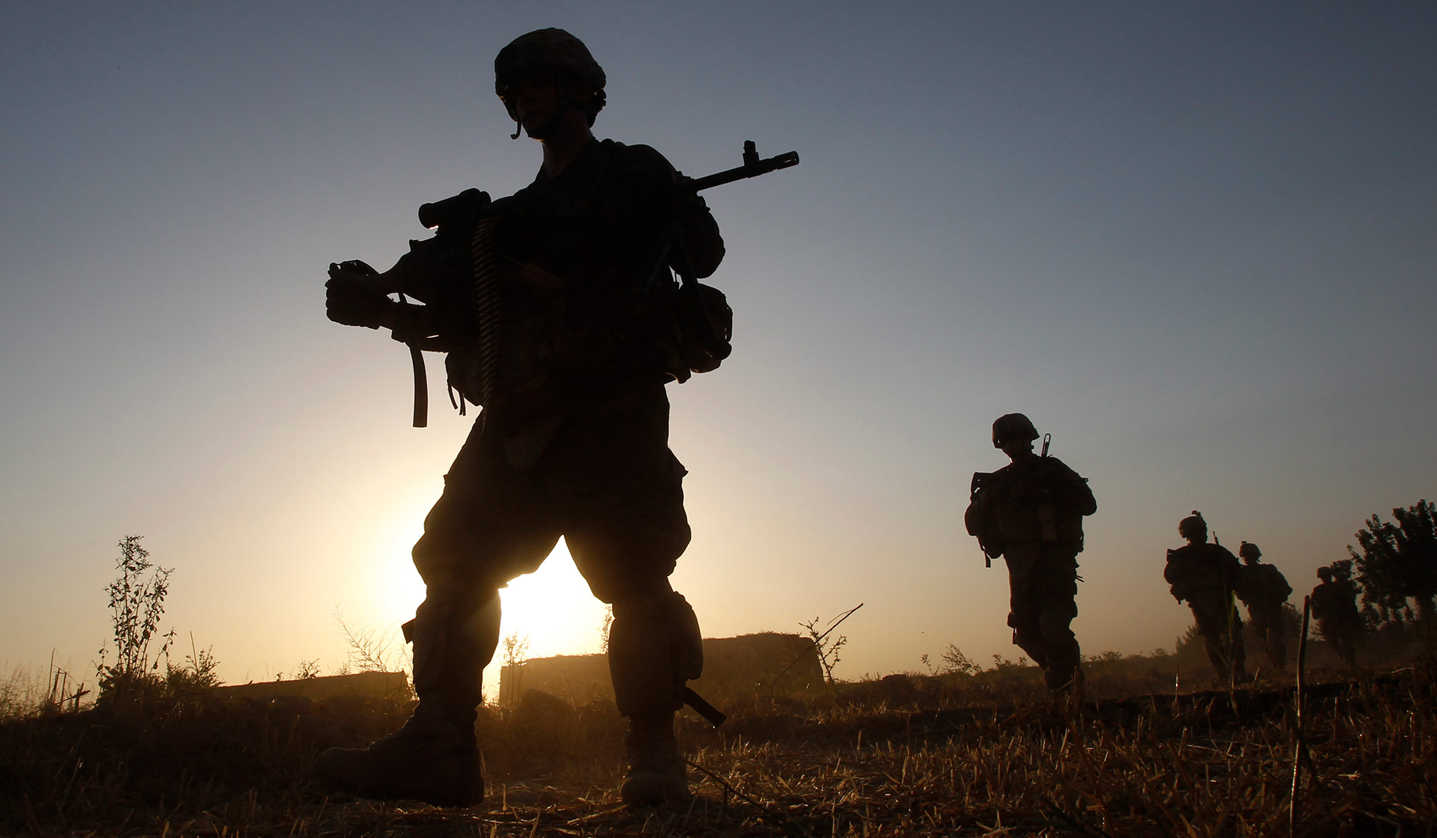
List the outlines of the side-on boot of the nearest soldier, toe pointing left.
{"type": "Polygon", "coordinates": [[[399,730],[369,747],[331,747],[313,778],[375,801],[473,806],[484,799],[474,713],[440,713],[421,703],[399,730]]]}

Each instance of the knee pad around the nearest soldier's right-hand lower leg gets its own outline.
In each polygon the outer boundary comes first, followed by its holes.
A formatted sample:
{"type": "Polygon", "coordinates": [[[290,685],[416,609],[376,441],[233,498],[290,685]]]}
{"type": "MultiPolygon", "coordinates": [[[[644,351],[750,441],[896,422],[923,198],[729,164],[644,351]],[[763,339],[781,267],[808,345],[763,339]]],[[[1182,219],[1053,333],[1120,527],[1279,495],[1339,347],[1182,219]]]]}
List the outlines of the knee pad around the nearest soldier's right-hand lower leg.
{"type": "Polygon", "coordinates": [[[703,670],[698,617],[667,581],[614,601],[609,676],[619,714],[678,710],[684,703],[684,683],[701,676],[703,670]]]}

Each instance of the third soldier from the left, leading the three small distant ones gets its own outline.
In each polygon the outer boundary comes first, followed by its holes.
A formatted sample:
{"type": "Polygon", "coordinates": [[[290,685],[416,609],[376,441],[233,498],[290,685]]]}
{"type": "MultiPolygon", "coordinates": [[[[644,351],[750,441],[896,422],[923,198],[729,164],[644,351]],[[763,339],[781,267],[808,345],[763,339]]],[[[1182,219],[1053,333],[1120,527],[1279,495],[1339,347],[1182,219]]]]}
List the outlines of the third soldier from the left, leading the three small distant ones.
{"type": "Polygon", "coordinates": [[[1223,545],[1207,543],[1207,522],[1196,509],[1178,522],[1177,532],[1187,539],[1187,545],[1168,551],[1163,569],[1168,591],[1178,602],[1187,599],[1193,609],[1207,663],[1213,664],[1217,678],[1247,680],[1243,620],[1233,602],[1242,565],[1223,545]]]}

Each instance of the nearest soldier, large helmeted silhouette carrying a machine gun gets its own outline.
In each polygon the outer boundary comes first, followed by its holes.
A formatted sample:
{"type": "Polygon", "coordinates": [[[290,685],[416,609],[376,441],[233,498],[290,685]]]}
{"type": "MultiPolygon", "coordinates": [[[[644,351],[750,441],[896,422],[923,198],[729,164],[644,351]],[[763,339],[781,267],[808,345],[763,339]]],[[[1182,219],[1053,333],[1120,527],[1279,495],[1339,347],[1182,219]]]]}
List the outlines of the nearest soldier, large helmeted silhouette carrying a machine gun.
{"type": "Polygon", "coordinates": [[[660,303],[674,287],[665,262],[706,277],[723,239],[661,154],[595,139],[605,75],[579,39],[523,34],[500,50],[494,75],[509,115],[543,148],[533,184],[493,203],[473,193],[477,220],[463,234],[441,224],[385,273],[331,266],[331,319],[450,351],[451,385],[484,410],[414,545],[425,598],[405,637],[418,707],[368,749],[326,750],[315,773],[369,798],[483,799],[474,722],[499,643],[499,589],[563,536],[614,608],[622,799],[684,801],[674,713],[703,650],[693,608],[668,582],[690,529],[664,384],[688,369],[674,367],[674,323],[660,303]],[[502,318],[484,321],[474,283],[496,275],[497,286],[479,287],[499,289],[502,318]],[[394,292],[428,305],[392,302],[394,292]]]}

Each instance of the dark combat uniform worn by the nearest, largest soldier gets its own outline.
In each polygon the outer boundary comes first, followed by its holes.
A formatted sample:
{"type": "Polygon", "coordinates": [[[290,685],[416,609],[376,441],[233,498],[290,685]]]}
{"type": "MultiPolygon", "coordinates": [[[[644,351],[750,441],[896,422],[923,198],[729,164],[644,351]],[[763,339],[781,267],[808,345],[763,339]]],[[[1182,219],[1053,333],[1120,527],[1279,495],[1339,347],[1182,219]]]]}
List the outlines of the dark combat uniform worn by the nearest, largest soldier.
{"type": "MultiPolygon", "coordinates": [[[[662,194],[673,178],[651,148],[593,141],[558,177],[540,174],[493,204],[503,262],[523,267],[504,272],[496,404],[445,474],[414,546],[428,592],[415,617],[421,699],[456,690],[461,706],[479,703],[480,670],[499,643],[499,609],[484,599],[537,569],[560,535],[595,597],[614,605],[619,712],[671,713],[684,681],[700,674],[697,621],[667,582],[690,539],[685,471],[668,450],[664,321],[642,293],[658,250],[650,221],[670,207],[635,197],[652,184],[662,194]],[[527,280],[533,269],[559,287],[527,280]],[[421,643],[425,622],[471,645],[421,643]]],[[[701,201],[685,214],[685,250],[707,276],[723,241],[701,201]]],[[[450,359],[458,388],[477,395],[477,362],[464,351],[450,359]]]]}

